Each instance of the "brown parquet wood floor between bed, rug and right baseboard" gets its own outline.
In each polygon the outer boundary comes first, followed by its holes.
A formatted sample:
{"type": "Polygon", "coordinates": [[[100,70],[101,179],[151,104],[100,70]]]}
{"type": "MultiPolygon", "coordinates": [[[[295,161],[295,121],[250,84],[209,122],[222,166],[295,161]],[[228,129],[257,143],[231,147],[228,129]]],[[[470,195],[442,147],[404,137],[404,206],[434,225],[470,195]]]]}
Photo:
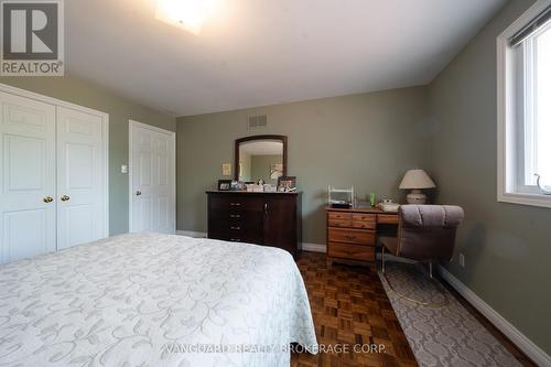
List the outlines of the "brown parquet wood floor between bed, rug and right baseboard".
{"type": "MultiPolygon", "coordinates": [[[[317,343],[381,344],[385,353],[294,353],[292,367],[418,366],[375,269],[327,266],[324,253],[306,251],[296,263],[309,293],[317,343]]],[[[461,295],[444,285],[522,366],[536,366],[461,295]]]]}

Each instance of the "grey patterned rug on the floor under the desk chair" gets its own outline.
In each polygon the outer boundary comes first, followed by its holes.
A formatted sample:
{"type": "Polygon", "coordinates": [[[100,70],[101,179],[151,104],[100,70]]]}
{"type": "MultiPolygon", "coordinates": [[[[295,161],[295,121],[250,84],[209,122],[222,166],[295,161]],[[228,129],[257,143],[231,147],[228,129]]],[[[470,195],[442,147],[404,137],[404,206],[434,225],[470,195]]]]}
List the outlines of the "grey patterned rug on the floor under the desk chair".
{"type": "Polygon", "coordinates": [[[420,366],[521,366],[421,266],[387,262],[387,278],[396,291],[423,302],[446,301],[443,307],[406,301],[390,290],[380,272],[379,277],[420,366]]]}

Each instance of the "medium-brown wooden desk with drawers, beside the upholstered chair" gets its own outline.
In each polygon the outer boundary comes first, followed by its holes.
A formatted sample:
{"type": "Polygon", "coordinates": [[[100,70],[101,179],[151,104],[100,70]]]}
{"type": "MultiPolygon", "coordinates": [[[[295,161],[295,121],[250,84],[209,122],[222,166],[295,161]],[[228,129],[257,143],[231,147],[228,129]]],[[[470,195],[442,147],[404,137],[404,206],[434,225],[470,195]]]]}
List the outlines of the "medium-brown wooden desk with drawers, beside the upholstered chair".
{"type": "Polygon", "coordinates": [[[398,213],[376,208],[336,209],[327,212],[327,260],[374,262],[377,235],[396,230],[398,213]]]}

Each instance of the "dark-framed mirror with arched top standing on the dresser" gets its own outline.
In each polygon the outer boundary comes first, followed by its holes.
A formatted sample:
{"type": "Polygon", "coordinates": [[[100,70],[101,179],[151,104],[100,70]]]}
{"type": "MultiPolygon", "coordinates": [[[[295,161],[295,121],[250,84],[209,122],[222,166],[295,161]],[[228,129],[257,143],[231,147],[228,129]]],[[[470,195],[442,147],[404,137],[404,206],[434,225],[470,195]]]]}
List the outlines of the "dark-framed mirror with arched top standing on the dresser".
{"type": "Polygon", "coordinates": [[[236,140],[234,180],[278,185],[287,176],[287,137],[252,136],[236,140]]]}

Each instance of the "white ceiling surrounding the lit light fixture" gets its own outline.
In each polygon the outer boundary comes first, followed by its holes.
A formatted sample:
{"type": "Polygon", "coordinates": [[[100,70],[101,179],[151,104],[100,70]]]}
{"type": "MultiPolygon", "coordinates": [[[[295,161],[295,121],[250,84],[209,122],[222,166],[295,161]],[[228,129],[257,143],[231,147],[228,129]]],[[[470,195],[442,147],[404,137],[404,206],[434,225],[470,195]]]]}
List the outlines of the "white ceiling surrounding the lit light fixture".
{"type": "Polygon", "coordinates": [[[154,0],[71,0],[66,72],[173,116],[424,85],[505,2],[219,0],[194,35],[154,0]]]}

